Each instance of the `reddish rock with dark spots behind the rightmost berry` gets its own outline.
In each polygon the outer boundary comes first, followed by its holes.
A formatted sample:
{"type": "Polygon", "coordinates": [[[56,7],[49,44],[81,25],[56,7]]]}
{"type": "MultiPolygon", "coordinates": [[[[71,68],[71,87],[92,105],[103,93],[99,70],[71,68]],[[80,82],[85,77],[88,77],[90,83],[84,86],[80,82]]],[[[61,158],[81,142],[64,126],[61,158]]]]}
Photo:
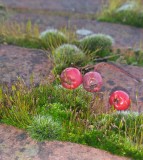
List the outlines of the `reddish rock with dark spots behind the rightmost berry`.
{"type": "MultiPolygon", "coordinates": [[[[132,100],[130,110],[143,112],[143,67],[99,63],[96,70],[103,77],[102,91],[110,95],[112,91],[124,90],[132,100]],[[138,80],[142,82],[138,82],[138,80]],[[138,105],[137,105],[138,102],[138,105]]],[[[105,101],[107,104],[107,100],[105,101]]]]}

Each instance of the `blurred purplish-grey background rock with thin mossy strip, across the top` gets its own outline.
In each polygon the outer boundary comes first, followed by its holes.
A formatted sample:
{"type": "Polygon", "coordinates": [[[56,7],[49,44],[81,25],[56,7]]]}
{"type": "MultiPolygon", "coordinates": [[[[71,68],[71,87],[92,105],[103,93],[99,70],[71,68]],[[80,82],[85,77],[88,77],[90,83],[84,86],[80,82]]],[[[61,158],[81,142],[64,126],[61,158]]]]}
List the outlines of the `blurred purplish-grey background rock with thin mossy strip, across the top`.
{"type": "Polygon", "coordinates": [[[143,48],[143,29],[127,25],[99,22],[95,15],[107,0],[1,0],[7,7],[7,21],[27,22],[29,19],[47,28],[88,29],[93,33],[105,33],[115,39],[117,47],[143,48]],[[81,5],[82,4],[82,5],[81,5]]]}

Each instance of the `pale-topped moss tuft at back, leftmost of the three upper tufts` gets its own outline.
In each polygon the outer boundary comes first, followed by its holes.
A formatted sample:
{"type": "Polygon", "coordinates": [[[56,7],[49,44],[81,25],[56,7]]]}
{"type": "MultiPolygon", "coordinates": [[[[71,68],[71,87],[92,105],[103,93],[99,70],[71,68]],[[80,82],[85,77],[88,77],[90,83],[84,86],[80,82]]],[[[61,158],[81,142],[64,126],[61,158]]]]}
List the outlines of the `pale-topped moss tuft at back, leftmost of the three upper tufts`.
{"type": "Polygon", "coordinates": [[[47,46],[47,48],[51,49],[68,42],[67,36],[63,32],[56,29],[47,29],[41,33],[40,38],[42,39],[45,48],[47,46]]]}

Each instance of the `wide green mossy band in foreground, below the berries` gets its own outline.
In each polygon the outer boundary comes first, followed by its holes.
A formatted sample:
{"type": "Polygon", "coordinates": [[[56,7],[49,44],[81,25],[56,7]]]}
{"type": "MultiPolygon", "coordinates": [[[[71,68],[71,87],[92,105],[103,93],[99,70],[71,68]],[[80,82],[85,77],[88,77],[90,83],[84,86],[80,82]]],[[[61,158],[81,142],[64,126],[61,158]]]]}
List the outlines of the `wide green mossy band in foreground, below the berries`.
{"type": "Polygon", "coordinates": [[[143,156],[143,115],[113,108],[104,112],[101,97],[82,86],[67,90],[54,82],[27,88],[19,82],[1,87],[0,103],[1,123],[24,128],[38,141],[57,139],[138,160],[143,156]]]}

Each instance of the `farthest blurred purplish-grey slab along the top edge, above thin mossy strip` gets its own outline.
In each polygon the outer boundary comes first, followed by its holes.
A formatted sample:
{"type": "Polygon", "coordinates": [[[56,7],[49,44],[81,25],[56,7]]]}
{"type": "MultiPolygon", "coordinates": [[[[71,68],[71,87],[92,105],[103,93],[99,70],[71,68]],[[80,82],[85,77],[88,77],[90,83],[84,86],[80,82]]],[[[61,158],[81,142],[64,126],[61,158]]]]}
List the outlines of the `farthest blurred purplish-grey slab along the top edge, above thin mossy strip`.
{"type": "Polygon", "coordinates": [[[101,0],[1,0],[7,7],[46,9],[68,12],[95,13],[102,5],[101,0]]]}

